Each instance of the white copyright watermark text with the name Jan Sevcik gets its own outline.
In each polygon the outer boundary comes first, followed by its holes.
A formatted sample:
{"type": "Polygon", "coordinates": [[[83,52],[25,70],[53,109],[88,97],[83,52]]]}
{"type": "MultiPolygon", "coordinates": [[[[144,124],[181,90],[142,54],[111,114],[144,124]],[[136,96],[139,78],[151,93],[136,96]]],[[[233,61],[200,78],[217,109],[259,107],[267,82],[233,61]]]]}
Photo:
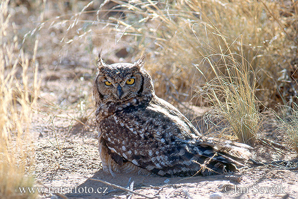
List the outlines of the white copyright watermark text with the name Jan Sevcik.
{"type": "Polygon", "coordinates": [[[285,187],[282,184],[274,184],[271,186],[259,186],[258,184],[254,184],[250,187],[239,186],[239,185],[224,185],[223,186],[224,193],[231,194],[286,194],[285,187]]]}

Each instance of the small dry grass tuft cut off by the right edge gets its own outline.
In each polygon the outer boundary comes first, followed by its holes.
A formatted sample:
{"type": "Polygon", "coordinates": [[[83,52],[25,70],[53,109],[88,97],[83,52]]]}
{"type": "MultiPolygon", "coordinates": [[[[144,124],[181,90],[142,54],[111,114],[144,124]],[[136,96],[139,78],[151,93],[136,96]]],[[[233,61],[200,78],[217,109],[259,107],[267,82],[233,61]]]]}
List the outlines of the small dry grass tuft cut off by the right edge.
{"type": "Polygon", "coordinates": [[[283,106],[276,114],[280,129],[287,133],[287,142],[298,153],[298,104],[283,106]]]}

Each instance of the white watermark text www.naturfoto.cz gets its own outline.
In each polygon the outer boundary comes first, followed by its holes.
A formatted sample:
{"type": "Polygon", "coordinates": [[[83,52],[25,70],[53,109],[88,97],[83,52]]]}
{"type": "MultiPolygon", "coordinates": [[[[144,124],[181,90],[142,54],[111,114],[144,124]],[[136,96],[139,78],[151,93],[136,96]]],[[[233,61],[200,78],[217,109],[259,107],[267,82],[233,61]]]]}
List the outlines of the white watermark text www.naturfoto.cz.
{"type": "Polygon", "coordinates": [[[21,194],[107,194],[107,187],[19,187],[21,194]]]}

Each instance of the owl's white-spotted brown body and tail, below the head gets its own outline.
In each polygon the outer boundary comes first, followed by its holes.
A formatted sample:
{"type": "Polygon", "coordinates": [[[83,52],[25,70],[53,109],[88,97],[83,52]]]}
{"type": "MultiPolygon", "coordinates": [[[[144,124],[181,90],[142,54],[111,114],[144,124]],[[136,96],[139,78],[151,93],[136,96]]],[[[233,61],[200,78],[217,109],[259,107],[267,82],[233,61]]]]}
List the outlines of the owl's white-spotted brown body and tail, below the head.
{"type": "Polygon", "coordinates": [[[245,144],[202,136],[156,96],[145,105],[136,99],[105,104],[96,116],[99,145],[119,166],[130,163],[161,176],[211,175],[234,171],[251,155],[245,144]]]}

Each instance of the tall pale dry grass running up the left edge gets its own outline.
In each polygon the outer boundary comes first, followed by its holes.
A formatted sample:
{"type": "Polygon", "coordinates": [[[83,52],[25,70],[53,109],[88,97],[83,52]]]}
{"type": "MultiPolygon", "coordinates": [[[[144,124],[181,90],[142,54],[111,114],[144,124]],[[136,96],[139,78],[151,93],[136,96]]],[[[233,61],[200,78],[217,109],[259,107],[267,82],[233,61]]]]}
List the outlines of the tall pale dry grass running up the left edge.
{"type": "Polygon", "coordinates": [[[29,199],[35,196],[20,194],[18,188],[33,187],[34,183],[30,176],[34,152],[28,128],[38,92],[38,68],[34,58],[30,63],[19,49],[8,2],[0,3],[0,199],[29,199]],[[34,73],[32,83],[29,71],[34,73]]]}

